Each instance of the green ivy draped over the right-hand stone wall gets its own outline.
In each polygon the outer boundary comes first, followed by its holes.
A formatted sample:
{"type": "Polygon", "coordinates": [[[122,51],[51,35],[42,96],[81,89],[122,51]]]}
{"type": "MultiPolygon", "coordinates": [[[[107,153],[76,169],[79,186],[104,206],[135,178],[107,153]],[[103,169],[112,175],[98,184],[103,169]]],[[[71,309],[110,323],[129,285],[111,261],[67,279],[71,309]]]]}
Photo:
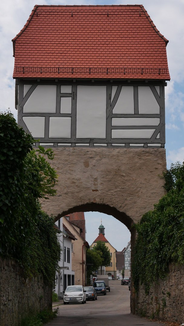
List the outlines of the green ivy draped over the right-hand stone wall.
{"type": "Polygon", "coordinates": [[[154,281],[167,275],[170,262],[184,263],[184,164],[173,164],[168,175],[173,180],[171,189],[135,225],[132,276],[136,291],[141,281],[148,293],[154,281]]]}

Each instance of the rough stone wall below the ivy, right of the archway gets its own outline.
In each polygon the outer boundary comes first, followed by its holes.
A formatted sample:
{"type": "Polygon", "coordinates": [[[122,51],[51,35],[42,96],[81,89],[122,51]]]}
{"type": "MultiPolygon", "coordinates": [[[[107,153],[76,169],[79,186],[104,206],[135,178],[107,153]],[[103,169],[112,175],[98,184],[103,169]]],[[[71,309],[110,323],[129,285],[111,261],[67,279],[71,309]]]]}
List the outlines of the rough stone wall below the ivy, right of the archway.
{"type": "Polygon", "coordinates": [[[149,294],[140,286],[136,296],[136,314],[184,323],[184,266],[169,266],[169,274],[151,286],[149,294]]]}

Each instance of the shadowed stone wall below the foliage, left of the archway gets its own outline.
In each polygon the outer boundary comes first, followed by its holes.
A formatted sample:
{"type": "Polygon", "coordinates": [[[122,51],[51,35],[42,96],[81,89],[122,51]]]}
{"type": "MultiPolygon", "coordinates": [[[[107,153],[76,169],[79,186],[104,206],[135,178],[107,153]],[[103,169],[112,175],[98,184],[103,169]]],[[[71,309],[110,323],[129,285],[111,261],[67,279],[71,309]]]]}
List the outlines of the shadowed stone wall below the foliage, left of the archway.
{"type": "Polygon", "coordinates": [[[52,306],[52,289],[41,277],[24,278],[12,259],[0,258],[0,325],[17,326],[21,319],[52,306]]]}

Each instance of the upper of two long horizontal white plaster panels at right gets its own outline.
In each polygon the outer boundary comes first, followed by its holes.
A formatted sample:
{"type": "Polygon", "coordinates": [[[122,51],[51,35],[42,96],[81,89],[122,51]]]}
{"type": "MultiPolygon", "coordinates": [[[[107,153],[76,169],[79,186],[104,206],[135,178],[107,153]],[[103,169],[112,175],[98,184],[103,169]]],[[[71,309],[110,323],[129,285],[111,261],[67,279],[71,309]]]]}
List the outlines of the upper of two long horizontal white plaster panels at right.
{"type": "Polygon", "coordinates": [[[112,118],[112,126],[158,126],[159,118],[112,118]]]}

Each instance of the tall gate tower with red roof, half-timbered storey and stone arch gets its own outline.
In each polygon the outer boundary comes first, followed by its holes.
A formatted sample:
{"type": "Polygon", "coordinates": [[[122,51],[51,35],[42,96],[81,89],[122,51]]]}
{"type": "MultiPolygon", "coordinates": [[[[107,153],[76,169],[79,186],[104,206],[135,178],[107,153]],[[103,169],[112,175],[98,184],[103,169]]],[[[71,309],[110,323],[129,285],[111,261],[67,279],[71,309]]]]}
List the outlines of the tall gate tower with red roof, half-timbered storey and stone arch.
{"type": "Polygon", "coordinates": [[[35,6],[12,40],[18,124],[53,147],[56,216],[130,230],[164,194],[166,45],[142,5],[35,6]]]}

